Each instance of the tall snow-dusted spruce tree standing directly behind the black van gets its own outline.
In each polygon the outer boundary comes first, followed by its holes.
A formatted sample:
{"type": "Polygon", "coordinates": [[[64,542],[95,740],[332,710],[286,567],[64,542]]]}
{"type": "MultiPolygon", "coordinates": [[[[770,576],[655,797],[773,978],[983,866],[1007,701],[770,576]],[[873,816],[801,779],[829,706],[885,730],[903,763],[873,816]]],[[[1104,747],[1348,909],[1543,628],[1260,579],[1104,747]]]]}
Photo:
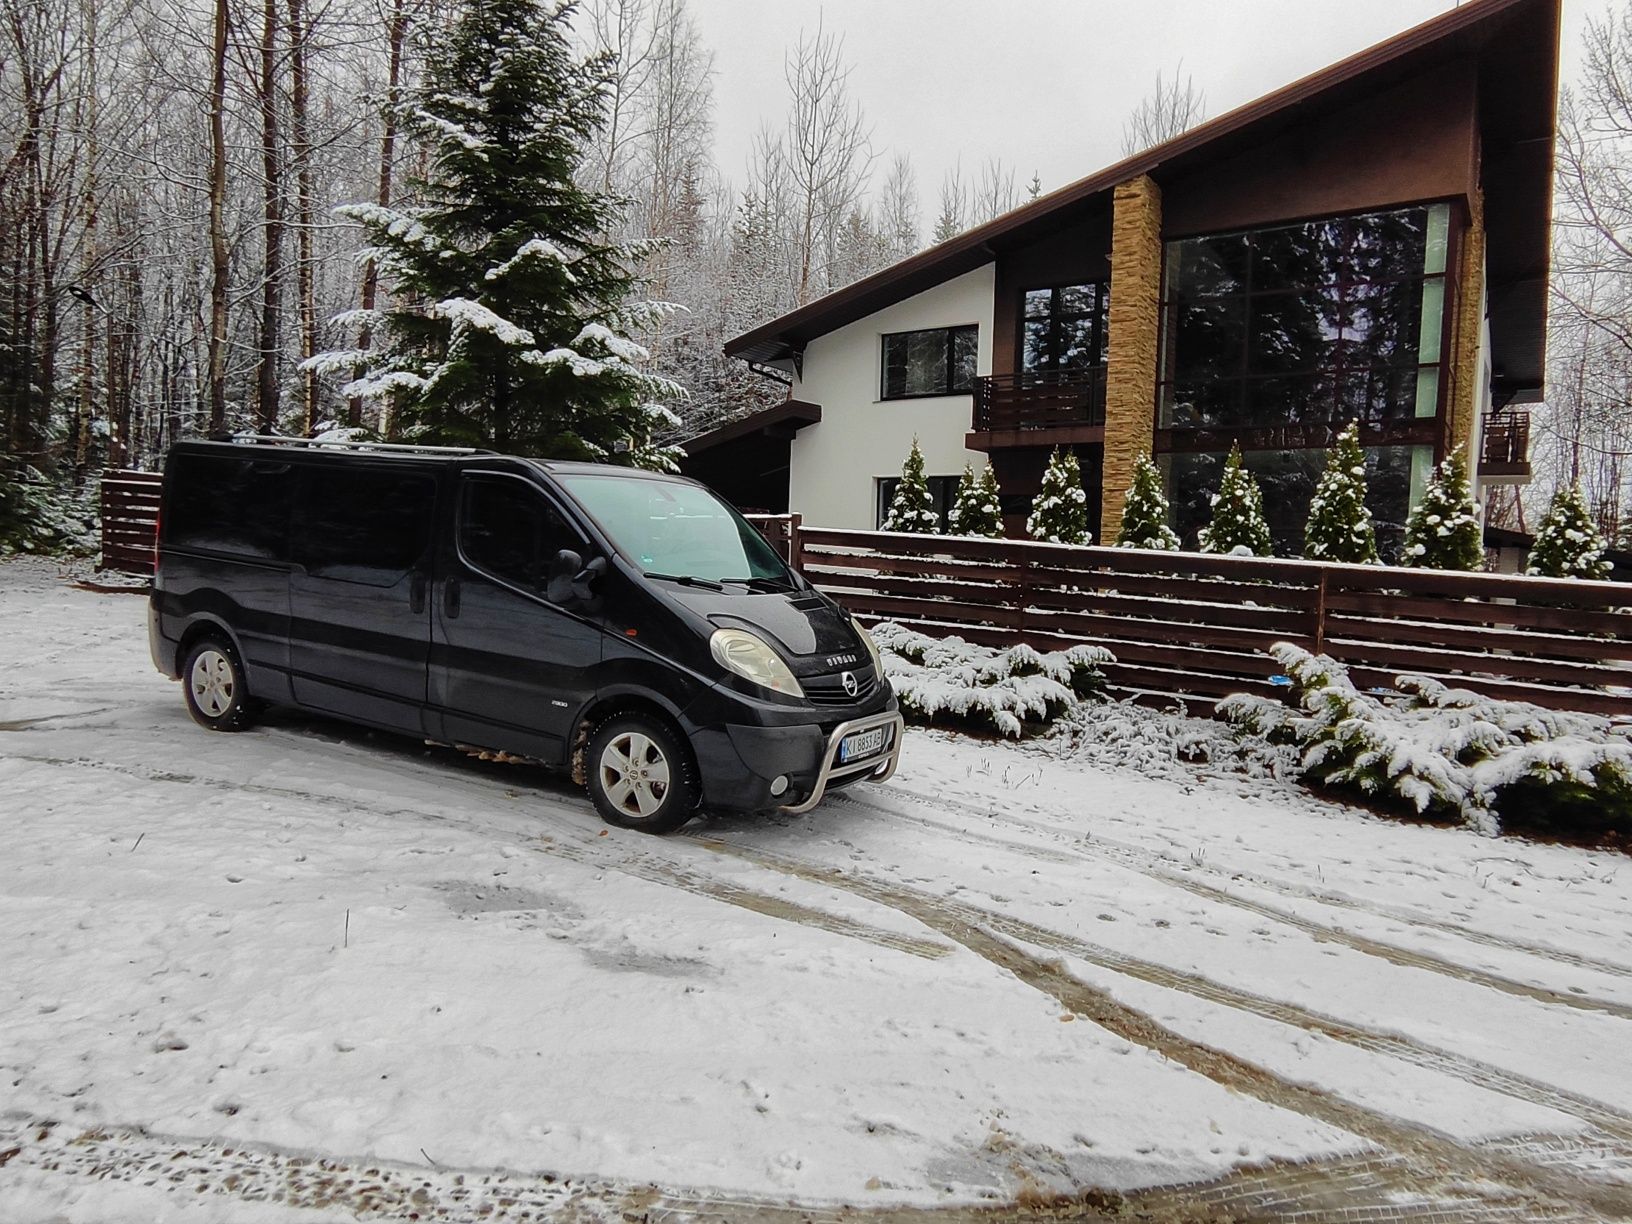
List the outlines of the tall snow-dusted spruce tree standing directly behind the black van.
{"type": "MultiPolygon", "coordinates": [[[[351,204],[392,290],[377,346],[308,366],[388,397],[400,434],[529,455],[672,467],[651,442],[681,387],[628,339],[671,310],[636,300],[651,243],[617,243],[622,204],[574,183],[610,60],[579,60],[571,7],[468,3],[432,36],[401,118],[429,152],[411,207],[351,204]]],[[[356,315],[349,322],[359,322],[356,315]]]]}

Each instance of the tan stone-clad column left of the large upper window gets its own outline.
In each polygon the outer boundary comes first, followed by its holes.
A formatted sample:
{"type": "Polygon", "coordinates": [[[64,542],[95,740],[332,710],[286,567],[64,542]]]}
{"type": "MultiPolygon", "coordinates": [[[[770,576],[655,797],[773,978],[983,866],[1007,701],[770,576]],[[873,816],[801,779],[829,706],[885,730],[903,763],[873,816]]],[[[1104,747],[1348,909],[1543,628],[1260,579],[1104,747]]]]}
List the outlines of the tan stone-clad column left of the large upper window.
{"type": "Polygon", "coordinates": [[[1113,196],[1105,478],[1097,543],[1116,543],[1134,460],[1151,449],[1160,305],[1162,189],[1141,175],[1118,183],[1113,196]]]}

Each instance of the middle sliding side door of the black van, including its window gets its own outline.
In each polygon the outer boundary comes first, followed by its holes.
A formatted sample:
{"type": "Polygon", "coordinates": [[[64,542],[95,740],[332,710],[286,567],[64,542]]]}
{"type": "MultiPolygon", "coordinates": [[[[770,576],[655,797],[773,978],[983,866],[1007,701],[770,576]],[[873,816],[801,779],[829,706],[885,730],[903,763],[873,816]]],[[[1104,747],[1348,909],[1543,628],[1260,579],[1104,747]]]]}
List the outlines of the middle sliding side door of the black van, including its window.
{"type": "Polygon", "coordinates": [[[398,463],[302,467],[289,579],[300,705],[423,734],[436,475],[398,463]]]}

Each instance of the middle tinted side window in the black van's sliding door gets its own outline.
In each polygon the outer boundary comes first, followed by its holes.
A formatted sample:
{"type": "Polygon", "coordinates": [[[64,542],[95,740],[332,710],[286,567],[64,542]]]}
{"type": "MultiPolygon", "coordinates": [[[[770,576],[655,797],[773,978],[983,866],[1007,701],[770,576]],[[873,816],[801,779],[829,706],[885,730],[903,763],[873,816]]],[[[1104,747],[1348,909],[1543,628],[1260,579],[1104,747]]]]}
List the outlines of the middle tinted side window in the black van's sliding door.
{"type": "Polygon", "coordinates": [[[426,472],[304,468],[295,560],[317,578],[395,586],[431,545],[434,508],[426,472]]]}

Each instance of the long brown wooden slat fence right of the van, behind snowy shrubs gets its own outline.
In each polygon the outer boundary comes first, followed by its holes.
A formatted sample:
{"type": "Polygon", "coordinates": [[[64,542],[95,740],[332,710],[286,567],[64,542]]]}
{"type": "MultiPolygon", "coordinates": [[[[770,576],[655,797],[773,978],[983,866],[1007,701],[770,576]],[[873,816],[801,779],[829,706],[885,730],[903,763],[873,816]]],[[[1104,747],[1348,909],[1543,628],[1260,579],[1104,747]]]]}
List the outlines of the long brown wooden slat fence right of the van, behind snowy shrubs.
{"type": "Polygon", "coordinates": [[[813,583],[870,620],[971,641],[1108,646],[1123,694],[1206,708],[1284,695],[1276,641],[1361,685],[1426,674],[1549,708],[1632,715],[1632,591],[1501,574],[1079,548],[1022,540],[798,532],[813,583]]]}

